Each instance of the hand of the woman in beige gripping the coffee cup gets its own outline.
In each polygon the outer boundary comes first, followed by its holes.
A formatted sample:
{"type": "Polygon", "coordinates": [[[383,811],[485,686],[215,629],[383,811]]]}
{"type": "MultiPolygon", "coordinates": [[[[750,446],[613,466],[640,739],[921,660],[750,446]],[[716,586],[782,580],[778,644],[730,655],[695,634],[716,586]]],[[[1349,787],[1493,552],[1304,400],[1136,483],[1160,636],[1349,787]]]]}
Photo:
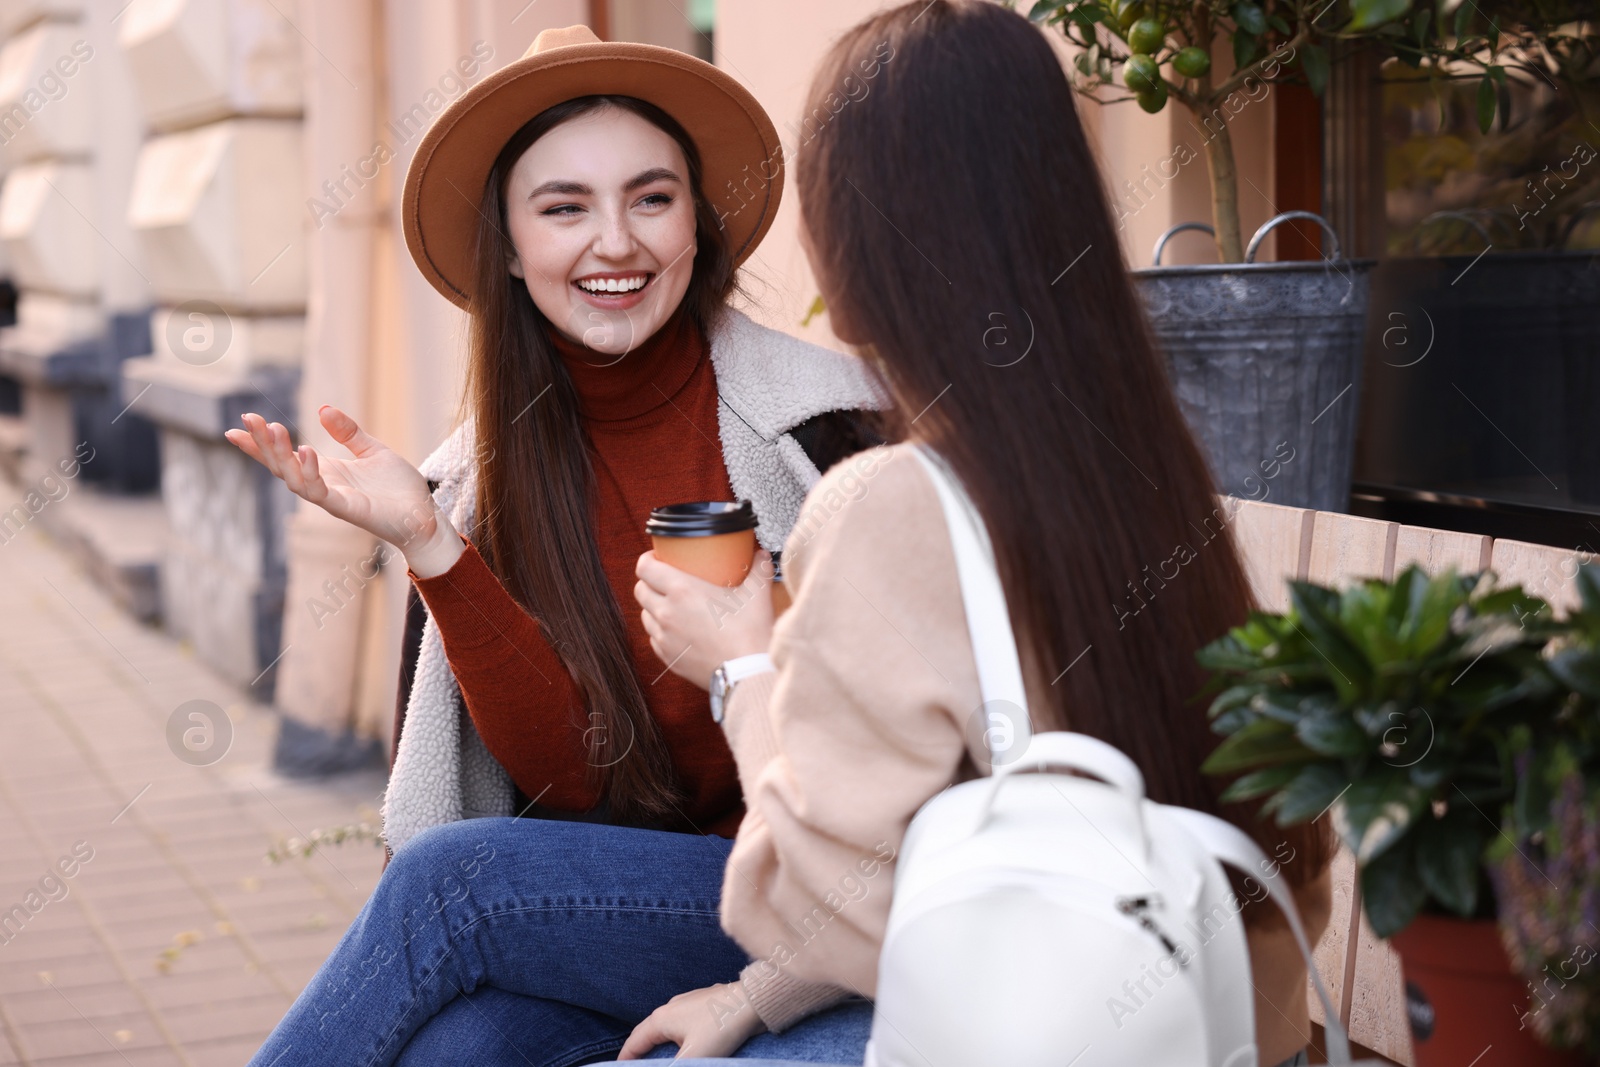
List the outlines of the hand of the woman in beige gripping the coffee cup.
{"type": "Polygon", "coordinates": [[[723,662],[771,645],[773,557],[765,549],[755,553],[744,584],[733,589],[662,563],[654,552],[638,557],[634,573],[650,646],[672,673],[699,688],[710,688],[710,672],[723,662]]]}

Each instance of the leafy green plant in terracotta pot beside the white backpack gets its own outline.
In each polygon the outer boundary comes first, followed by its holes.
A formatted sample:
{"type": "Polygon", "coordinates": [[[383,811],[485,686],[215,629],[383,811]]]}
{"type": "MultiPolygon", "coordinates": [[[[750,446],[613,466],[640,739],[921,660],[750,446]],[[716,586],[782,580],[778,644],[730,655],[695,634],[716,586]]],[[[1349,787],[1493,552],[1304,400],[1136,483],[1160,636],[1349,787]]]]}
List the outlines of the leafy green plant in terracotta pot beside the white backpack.
{"type": "MultiPolygon", "coordinates": [[[[1582,581],[1600,605],[1597,573],[1582,581]]],[[[1421,1067],[1518,1043],[1518,1064],[1566,1062],[1510,1011],[1530,990],[1501,947],[1485,859],[1518,805],[1549,811],[1518,768],[1587,729],[1552,667],[1571,624],[1491,574],[1416,566],[1342,592],[1290,582],[1290,600],[1198,653],[1224,734],[1205,768],[1280,825],[1331,817],[1373,931],[1400,953],[1421,1067]]]]}

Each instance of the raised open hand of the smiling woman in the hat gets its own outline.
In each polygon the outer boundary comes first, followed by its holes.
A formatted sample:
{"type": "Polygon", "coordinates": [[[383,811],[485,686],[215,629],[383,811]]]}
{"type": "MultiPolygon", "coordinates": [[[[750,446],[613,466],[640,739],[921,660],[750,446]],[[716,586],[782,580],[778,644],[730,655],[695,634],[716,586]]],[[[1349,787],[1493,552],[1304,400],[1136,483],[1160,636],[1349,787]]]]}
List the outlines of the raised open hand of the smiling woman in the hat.
{"type": "Polygon", "coordinates": [[[350,450],[350,459],[318,456],[310,445],[290,448],[288,429],[254,413],[243,418],[246,429],[224,437],[296,496],[400,549],[418,576],[448,571],[464,545],[434,504],[422,472],[344,411],[323,405],[317,414],[333,440],[350,450]]]}

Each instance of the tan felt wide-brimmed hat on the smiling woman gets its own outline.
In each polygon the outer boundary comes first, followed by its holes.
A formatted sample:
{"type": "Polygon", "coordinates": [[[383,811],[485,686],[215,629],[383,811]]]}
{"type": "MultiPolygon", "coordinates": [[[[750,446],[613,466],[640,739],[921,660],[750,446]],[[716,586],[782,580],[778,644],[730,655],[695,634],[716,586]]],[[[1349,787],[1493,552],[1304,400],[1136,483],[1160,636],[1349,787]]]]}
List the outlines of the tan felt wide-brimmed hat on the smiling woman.
{"type": "Polygon", "coordinates": [[[694,139],[702,186],[734,264],[778,214],[784,152],[778,130],[742,85],[672,48],[602,42],[587,26],[544,30],[523,53],[440,112],[405,176],[411,258],[435,290],[467,306],[478,203],[494,158],[530,118],[578,96],[635,96],[694,139]]]}

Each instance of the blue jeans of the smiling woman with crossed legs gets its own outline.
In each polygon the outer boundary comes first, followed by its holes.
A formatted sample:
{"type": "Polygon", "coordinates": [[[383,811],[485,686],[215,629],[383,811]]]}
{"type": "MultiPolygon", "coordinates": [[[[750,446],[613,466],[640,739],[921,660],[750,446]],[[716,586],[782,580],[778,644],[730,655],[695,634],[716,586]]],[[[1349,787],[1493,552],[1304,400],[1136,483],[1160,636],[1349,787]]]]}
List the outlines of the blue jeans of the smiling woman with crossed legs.
{"type": "MultiPolygon", "coordinates": [[[[672,997],[736,981],[750,961],[717,915],[731,848],[542,819],[426,830],[251,1067],[608,1059],[672,997]]],[[[858,1000],[760,1035],[739,1057],[859,1064],[869,1030],[858,1000]]]]}

